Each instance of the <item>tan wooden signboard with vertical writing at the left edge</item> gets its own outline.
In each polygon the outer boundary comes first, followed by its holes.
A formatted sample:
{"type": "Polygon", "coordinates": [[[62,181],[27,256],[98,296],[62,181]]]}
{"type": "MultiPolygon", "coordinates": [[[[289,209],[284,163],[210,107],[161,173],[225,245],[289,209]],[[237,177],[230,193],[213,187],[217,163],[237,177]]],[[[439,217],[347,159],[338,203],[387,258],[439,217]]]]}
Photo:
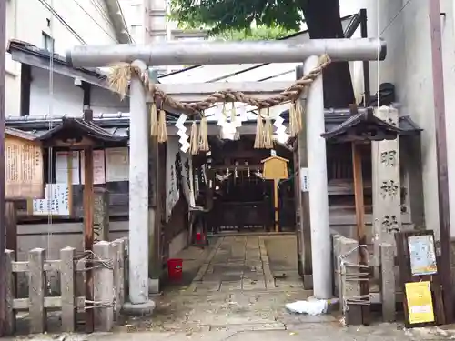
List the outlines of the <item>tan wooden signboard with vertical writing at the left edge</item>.
{"type": "Polygon", "coordinates": [[[5,129],[5,199],[40,199],[44,193],[43,149],[35,135],[5,129]]]}

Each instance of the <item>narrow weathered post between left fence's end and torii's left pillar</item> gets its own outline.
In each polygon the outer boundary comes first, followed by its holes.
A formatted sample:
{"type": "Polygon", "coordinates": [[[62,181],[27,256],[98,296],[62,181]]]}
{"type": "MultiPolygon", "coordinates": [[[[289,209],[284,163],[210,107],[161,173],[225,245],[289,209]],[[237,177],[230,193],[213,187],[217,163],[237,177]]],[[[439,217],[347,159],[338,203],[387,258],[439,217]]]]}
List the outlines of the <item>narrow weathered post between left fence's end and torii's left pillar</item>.
{"type": "Polygon", "coordinates": [[[114,289],[116,305],[114,319],[118,321],[120,310],[125,303],[125,239],[117,239],[112,243],[114,266],[114,289]]]}

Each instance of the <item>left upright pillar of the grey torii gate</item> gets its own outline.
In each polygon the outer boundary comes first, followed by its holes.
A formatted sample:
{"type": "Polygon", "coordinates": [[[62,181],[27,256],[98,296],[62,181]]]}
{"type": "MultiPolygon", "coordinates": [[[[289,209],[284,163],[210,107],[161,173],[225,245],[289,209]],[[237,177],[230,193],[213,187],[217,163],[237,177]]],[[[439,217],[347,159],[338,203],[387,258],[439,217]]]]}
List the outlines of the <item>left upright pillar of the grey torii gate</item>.
{"type": "MultiPolygon", "coordinates": [[[[133,65],[146,70],[136,60],[133,65]]],[[[129,125],[129,300],[148,301],[148,115],[146,91],[139,78],[131,80],[129,125]]]]}

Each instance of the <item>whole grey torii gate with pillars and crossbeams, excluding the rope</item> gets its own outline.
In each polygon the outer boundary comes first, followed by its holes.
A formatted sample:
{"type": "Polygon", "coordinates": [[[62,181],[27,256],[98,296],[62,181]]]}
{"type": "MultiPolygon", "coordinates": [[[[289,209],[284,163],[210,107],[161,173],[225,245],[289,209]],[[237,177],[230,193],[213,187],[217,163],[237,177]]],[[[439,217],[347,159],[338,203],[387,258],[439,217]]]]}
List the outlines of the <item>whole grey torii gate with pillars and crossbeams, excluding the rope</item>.
{"type": "MultiPolygon", "coordinates": [[[[386,56],[386,44],[381,39],[321,39],[304,43],[267,42],[178,42],[152,45],[76,46],[66,54],[74,66],[102,67],[128,63],[146,70],[157,65],[227,65],[256,63],[305,62],[305,73],[318,66],[319,55],[327,54],[332,61],[377,61],[386,56]]],[[[167,94],[179,100],[193,102],[201,96],[219,90],[278,94],[290,82],[211,83],[163,85],[167,94]]],[[[161,85],[159,85],[161,87],[161,85]]],[[[153,306],[148,300],[148,238],[157,231],[153,226],[153,210],[149,211],[148,141],[149,114],[147,94],[141,80],[135,77],[130,86],[130,165],[129,165],[129,307],[137,310],[153,306]]],[[[309,88],[307,100],[307,148],[309,219],[311,226],[314,296],[332,296],[331,245],[327,183],[326,141],[322,77],[309,88]]],[[[157,286],[152,280],[152,286],[157,286]]]]}

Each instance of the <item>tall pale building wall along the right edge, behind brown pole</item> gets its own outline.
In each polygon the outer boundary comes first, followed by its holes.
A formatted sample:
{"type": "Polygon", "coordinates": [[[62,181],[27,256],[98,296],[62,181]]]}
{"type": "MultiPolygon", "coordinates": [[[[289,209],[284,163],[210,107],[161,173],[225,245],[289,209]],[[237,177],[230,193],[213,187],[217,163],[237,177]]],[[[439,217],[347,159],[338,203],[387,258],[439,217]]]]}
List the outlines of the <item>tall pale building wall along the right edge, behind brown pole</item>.
{"type": "MultiPolygon", "coordinates": [[[[340,0],[342,4],[351,0],[340,0]]],[[[438,235],[438,189],[435,120],[431,70],[430,18],[427,1],[356,0],[367,8],[369,36],[387,41],[387,58],[379,65],[379,83],[396,86],[402,115],[410,115],[423,128],[421,133],[422,173],[426,227],[438,235]]],[[[446,99],[447,144],[449,151],[450,220],[455,235],[455,7],[451,0],[440,0],[442,53],[446,99]]],[[[377,63],[370,63],[371,92],[378,89],[377,63]]],[[[360,88],[361,79],[355,79],[360,88]]]]}

